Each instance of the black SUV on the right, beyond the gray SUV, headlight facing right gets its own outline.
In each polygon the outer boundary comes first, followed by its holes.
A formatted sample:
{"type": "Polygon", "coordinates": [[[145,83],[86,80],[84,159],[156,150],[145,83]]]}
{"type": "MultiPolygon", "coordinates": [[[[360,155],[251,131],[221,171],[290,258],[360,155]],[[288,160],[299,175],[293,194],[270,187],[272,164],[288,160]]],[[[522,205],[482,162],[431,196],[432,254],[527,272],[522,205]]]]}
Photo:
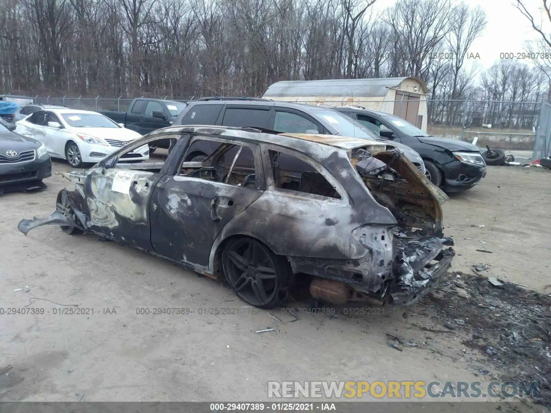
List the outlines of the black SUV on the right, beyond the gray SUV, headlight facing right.
{"type": "Polygon", "coordinates": [[[472,188],[486,176],[486,163],[478,146],[462,140],[431,136],[390,113],[357,106],[327,106],[363,124],[382,138],[417,151],[425,162],[426,177],[446,192],[472,188]]]}

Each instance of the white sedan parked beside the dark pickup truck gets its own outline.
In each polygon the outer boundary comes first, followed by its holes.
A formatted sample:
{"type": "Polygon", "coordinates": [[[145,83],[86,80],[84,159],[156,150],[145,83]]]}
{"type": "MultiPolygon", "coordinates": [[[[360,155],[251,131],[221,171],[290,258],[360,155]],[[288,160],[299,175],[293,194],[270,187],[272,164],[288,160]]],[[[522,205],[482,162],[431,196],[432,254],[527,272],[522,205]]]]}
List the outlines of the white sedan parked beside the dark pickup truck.
{"type": "MultiPolygon", "coordinates": [[[[15,124],[15,132],[43,143],[50,156],[66,159],[74,168],[86,162],[95,164],[142,137],[100,113],[67,108],[40,110],[15,124]]],[[[121,157],[121,160],[132,162],[147,159],[147,145],[121,157]]]]}

